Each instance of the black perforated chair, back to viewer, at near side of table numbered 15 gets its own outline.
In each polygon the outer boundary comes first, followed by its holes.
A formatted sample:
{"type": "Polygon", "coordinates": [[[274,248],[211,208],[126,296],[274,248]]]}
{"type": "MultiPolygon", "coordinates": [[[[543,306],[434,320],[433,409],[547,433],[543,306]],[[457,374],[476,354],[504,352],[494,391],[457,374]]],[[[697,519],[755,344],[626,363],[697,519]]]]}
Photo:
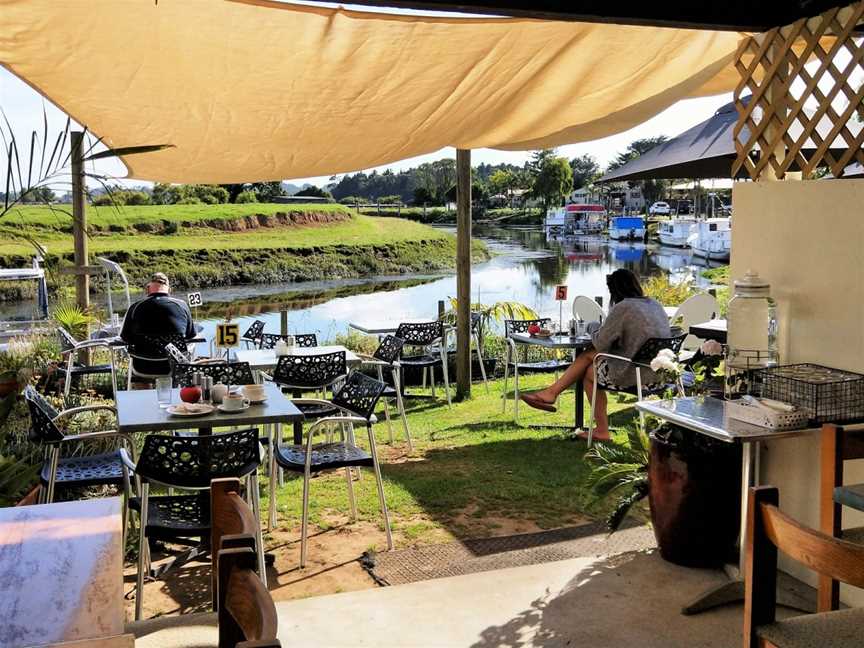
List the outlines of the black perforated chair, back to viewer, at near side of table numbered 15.
{"type": "Polygon", "coordinates": [[[257,477],[260,452],[258,430],[254,428],[196,437],[151,434],[144,440],[135,466],[141,480],[140,497],[130,501],[140,516],[136,620],[144,606],[144,576],[150,571],[149,540],[187,545],[206,542],[211,531],[210,501],[203,491],[214,479],[246,478],[247,499],[258,520],[259,569],[265,578],[257,477]],[[151,495],[151,485],[199,492],[151,495]]]}

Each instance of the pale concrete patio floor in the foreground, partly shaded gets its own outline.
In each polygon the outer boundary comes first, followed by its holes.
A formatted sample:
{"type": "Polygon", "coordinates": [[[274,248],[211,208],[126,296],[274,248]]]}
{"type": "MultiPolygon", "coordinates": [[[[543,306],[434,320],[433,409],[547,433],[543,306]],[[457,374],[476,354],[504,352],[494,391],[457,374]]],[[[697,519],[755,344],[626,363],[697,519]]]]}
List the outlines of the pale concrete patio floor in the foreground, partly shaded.
{"type": "MultiPolygon", "coordinates": [[[[741,643],[740,605],[680,614],[724,578],[653,552],[577,558],[279,602],[279,637],[286,647],[728,648],[741,643]]],[[[154,632],[167,618],[145,622],[136,648],[215,645],[212,616],[190,616],[173,634],[154,632]]]]}

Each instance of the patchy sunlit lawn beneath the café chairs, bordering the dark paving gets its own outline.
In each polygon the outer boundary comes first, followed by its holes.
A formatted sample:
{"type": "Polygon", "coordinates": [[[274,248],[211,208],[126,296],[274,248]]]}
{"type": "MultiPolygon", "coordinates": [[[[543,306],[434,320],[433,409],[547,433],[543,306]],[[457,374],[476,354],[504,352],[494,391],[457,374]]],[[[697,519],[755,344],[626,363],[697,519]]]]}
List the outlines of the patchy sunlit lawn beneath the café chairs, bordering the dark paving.
{"type": "MultiPolygon", "coordinates": [[[[549,380],[531,376],[520,381],[520,387],[535,389],[549,380]]],[[[387,444],[386,424],[375,426],[397,547],[561,527],[604,515],[596,506],[592,510],[583,486],[585,443],[567,438],[564,430],[540,427],[572,424],[572,392],[562,398],[555,414],[521,406],[515,424],[512,399],[507,413],[501,412],[502,388],[502,380],[493,381],[486,395],[482,383],[474,385],[474,398],[454,403],[452,409],[443,401],[409,401],[415,447],[411,455],[398,419],[392,446],[387,444]]],[[[610,398],[613,428],[632,420],[632,403],[630,398],[621,403],[610,398]]],[[[586,417],[587,412],[586,402],[586,417]]],[[[365,431],[358,436],[365,446],[364,439],[365,431]]],[[[267,489],[262,490],[266,494],[267,489]]],[[[370,471],[355,482],[355,494],[360,519],[380,525],[370,471]]],[[[281,530],[299,526],[301,497],[302,479],[286,474],[277,495],[281,530]]],[[[341,525],[348,510],[344,473],[313,479],[313,525],[322,530],[341,525]]]]}

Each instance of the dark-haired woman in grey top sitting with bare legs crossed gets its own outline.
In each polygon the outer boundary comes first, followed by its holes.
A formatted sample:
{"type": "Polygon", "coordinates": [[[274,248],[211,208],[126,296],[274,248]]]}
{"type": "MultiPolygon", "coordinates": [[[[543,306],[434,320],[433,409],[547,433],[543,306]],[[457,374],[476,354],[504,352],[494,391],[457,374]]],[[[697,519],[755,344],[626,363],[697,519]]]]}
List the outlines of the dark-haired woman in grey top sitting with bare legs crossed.
{"type": "MultiPolygon", "coordinates": [[[[554,412],[555,401],[561,392],[569,389],[580,378],[585,393],[591,398],[594,382],[598,378],[594,375],[594,356],[598,352],[632,358],[649,339],[671,335],[666,312],[658,302],[645,297],[635,274],[623,268],[616,270],[606,276],[606,286],[610,295],[609,316],[602,326],[597,322],[588,325],[594,349],[579,354],[561,377],[546,389],[521,394],[522,400],[531,407],[554,412]]],[[[636,371],[632,365],[613,359],[597,364],[600,385],[632,387],[636,384],[636,371]]],[[[652,378],[650,373],[643,375],[645,382],[650,382],[652,378]]],[[[606,416],[606,392],[602,389],[597,390],[594,408],[594,438],[607,440],[609,418],[606,416]]]]}

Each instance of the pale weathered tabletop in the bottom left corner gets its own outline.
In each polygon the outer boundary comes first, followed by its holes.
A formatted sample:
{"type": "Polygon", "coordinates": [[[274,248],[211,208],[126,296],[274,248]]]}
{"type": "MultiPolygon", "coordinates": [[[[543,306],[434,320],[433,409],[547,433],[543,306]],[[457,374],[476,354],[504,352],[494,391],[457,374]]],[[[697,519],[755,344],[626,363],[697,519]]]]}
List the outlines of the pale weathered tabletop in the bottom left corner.
{"type": "Polygon", "coordinates": [[[122,510],[119,497],[0,509],[0,645],[131,645],[122,510]]]}

